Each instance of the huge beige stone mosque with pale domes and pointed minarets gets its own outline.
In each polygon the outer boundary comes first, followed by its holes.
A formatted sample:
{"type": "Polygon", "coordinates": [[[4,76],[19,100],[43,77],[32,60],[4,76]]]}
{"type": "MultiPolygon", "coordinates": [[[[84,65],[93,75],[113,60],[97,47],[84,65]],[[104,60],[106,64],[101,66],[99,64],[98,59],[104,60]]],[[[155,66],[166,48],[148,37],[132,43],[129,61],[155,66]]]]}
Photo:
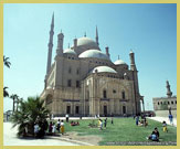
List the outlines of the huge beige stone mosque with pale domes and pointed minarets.
{"type": "Polygon", "coordinates": [[[84,35],[63,47],[64,34],[57,34],[57,47],[52,63],[54,14],[52,17],[44,89],[41,99],[54,116],[131,116],[141,113],[144,96],[139,93],[135,53],[130,66],[123,60],[110,60],[109,47],[99,47],[84,35]]]}

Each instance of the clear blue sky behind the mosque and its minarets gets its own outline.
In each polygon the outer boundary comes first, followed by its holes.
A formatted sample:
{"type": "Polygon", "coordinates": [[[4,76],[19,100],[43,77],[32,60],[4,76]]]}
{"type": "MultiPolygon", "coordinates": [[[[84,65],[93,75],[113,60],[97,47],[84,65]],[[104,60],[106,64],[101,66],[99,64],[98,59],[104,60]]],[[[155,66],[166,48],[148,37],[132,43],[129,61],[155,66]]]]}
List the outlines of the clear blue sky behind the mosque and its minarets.
{"type": "MultiPolygon", "coordinates": [[[[4,4],[3,54],[12,65],[10,70],[3,68],[3,83],[10,94],[25,99],[42,93],[53,12],[53,58],[61,30],[66,49],[84,32],[95,39],[97,25],[99,46],[103,52],[109,46],[113,62],[119,55],[129,64],[129,51],[135,52],[140,94],[147,109],[152,109],[152,97],[166,96],[167,79],[177,95],[177,4],[120,3],[4,4]]],[[[12,109],[10,98],[3,102],[4,111],[12,109]]]]}

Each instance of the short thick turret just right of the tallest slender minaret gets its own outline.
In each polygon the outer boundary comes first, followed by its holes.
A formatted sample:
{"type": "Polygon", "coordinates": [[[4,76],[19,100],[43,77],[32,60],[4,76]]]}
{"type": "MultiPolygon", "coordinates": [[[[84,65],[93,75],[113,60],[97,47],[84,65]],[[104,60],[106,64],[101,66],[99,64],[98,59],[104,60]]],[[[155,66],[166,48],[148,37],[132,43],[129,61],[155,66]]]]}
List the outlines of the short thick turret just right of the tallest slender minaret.
{"type": "Polygon", "coordinates": [[[64,41],[64,34],[61,33],[57,35],[57,49],[56,49],[56,55],[63,56],[63,41],[64,41]]]}

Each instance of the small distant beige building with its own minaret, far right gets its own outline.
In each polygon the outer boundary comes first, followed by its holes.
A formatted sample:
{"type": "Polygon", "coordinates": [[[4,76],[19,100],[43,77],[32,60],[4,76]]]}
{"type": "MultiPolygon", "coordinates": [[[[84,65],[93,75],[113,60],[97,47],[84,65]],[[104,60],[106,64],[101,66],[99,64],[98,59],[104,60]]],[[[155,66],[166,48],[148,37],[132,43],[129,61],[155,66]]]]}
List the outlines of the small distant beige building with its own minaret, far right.
{"type": "Polygon", "coordinates": [[[172,92],[170,89],[170,85],[168,81],[166,87],[167,87],[167,97],[152,98],[156,116],[167,117],[169,113],[171,113],[174,117],[177,117],[177,96],[172,96],[172,92]]]}

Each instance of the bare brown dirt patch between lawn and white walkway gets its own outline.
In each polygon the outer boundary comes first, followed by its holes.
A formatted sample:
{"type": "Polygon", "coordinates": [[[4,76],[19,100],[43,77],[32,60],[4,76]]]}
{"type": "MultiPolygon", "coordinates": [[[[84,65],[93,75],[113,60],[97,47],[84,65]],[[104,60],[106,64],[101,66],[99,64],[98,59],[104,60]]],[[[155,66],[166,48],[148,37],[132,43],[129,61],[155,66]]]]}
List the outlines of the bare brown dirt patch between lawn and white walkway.
{"type": "Polygon", "coordinates": [[[94,136],[94,135],[80,136],[77,132],[66,132],[65,135],[62,136],[62,138],[87,142],[94,146],[98,146],[98,142],[102,140],[102,137],[98,136],[94,136]]]}

